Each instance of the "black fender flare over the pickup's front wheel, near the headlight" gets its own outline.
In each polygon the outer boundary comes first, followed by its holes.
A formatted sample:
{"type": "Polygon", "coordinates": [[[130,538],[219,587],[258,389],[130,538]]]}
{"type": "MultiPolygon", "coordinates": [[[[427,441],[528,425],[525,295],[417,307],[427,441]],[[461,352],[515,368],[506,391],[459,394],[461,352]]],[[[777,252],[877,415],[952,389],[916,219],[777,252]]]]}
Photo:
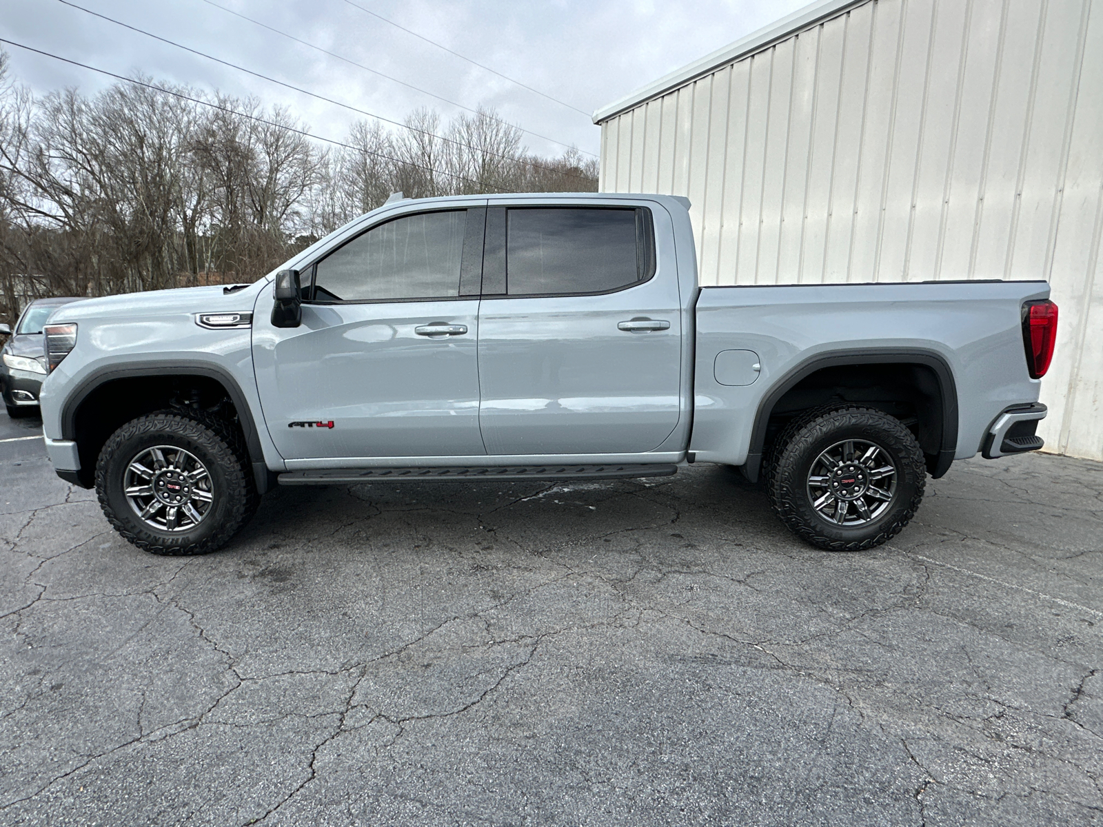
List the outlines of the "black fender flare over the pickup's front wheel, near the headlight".
{"type": "Polygon", "coordinates": [[[237,379],[226,369],[212,365],[208,362],[189,362],[186,359],[172,361],[150,361],[140,365],[126,367],[108,365],[93,370],[81,380],[81,384],[68,394],[65,404],[62,406],[62,438],[68,440],[76,439],[76,412],[88,395],[101,385],[115,379],[133,379],[142,376],[202,376],[214,379],[222,385],[229,395],[229,400],[237,410],[237,418],[242,423],[242,431],[245,436],[245,445],[249,452],[249,463],[253,465],[253,475],[256,480],[257,492],[264,494],[271,487],[271,477],[275,476],[268,470],[265,462],[264,450],[260,447],[260,434],[257,423],[253,418],[253,409],[249,407],[242,393],[242,387],[237,379]]]}

